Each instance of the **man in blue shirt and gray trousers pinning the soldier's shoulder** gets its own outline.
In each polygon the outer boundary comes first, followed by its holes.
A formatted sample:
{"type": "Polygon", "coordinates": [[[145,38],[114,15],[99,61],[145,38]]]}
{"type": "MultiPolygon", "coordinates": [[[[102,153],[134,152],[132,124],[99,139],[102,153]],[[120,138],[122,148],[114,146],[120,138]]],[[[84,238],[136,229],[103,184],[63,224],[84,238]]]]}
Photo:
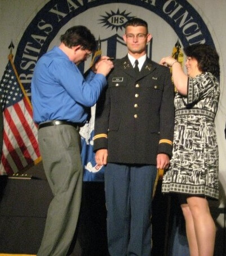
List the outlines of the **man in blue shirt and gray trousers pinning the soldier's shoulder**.
{"type": "Polygon", "coordinates": [[[38,256],[67,255],[79,215],[82,162],[79,127],[95,105],[113,68],[102,57],[86,79],[77,65],[96,50],[95,37],[83,26],[69,28],[37,62],[32,78],[34,121],[43,167],[54,198],[38,256]]]}

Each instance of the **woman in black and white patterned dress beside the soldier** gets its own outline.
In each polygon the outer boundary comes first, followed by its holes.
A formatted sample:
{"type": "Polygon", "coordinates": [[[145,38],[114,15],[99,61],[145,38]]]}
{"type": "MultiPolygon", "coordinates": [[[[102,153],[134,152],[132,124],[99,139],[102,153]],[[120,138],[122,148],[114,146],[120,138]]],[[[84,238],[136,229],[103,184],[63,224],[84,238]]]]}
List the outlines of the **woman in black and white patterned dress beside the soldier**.
{"type": "Polygon", "coordinates": [[[219,55],[207,45],[190,45],[187,75],[172,57],[161,64],[172,68],[175,132],[170,168],[162,192],[177,193],[191,256],[212,256],[216,227],[208,199],[218,199],[218,144],[214,118],[219,102],[219,55]]]}

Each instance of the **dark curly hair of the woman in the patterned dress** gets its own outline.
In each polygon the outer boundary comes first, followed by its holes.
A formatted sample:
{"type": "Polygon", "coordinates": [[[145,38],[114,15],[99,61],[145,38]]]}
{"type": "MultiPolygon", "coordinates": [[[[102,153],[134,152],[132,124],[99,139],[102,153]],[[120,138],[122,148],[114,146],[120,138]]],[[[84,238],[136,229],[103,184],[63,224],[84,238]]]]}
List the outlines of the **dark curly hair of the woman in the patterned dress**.
{"type": "Polygon", "coordinates": [[[198,68],[202,72],[210,72],[212,75],[220,76],[219,55],[214,48],[205,44],[190,45],[184,49],[187,57],[197,60],[198,68]]]}

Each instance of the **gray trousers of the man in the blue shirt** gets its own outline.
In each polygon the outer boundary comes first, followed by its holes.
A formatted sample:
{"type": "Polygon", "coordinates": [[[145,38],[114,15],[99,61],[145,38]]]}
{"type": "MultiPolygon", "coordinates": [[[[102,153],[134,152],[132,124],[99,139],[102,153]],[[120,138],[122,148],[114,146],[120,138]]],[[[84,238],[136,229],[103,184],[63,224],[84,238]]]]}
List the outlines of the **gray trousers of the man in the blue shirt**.
{"type": "Polygon", "coordinates": [[[54,198],[48,207],[37,255],[64,256],[72,242],[81,205],[81,138],[72,125],[54,125],[39,129],[38,143],[54,198]]]}

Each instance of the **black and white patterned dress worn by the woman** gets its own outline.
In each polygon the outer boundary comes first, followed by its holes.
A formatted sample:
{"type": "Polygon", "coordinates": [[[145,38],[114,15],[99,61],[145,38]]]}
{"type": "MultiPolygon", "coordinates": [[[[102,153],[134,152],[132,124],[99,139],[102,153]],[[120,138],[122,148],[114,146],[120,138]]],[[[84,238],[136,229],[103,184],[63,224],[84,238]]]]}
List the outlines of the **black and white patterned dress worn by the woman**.
{"type": "Polygon", "coordinates": [[[218,199],[218,144],[214,118],[219,82],[209,72],[188,79],[188,95],[175,96],[175,131],[170,168],[162,192],[218,199]]]}

